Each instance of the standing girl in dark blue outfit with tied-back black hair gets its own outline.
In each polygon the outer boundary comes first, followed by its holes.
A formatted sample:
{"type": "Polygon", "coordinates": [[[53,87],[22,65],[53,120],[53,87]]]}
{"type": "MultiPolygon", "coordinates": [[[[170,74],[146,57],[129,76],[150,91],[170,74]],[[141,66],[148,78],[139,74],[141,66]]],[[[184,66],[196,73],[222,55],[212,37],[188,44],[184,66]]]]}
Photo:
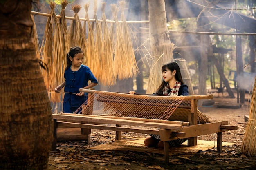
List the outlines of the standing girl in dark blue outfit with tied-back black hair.
{"type": "Polygon", "coordinates": [[[79,88],[92,88],[98,84],[97,79],[92,74],[88,66],[83,63],[83,51],[80,47],[74,46],[67,53],[67,67],[65,68],[65,82],[58,85],[54,90],[59,93],[64,88],[63,112],[74,113],[87,99],[84,92],[79,92],[79,88]],[[88,84],[88,81],[91,81],[88,84]],[[72,94],[73,93],[73,94],[72,94]]]}

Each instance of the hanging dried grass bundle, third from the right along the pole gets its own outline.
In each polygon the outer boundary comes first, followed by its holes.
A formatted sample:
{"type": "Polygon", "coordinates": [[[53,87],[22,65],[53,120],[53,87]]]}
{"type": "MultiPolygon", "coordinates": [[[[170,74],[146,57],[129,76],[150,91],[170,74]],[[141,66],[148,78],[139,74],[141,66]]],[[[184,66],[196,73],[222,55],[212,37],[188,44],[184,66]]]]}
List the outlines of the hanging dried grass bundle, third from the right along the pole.
{"type": "Polygon", "coordinates": [[[102,28],[102,33],[103,33],[103,51],[104,51],[104,56],[101,57],[101,63],[103,64],[102,71],[108,76],[101,76],[101,81],[104,85],[114,85],[116,83],[115,81],[115,76],[114,76],[114,69],[113,69],[113,44],[110,39],[110,35],[108,32],[108,24],[106,21],[106,15],[105,15],[105,7],[106,7],[106,2],[101,3],[101,11],[102,11],[102,23],[101,23],[101,28],[102,28]]]}

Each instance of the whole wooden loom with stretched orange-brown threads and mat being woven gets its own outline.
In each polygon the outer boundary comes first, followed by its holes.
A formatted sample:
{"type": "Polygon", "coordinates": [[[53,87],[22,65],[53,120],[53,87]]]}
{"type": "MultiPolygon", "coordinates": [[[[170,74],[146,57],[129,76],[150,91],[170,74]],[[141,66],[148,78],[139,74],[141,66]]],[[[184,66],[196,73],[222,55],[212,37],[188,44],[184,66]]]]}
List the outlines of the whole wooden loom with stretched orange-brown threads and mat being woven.
{"type": "Polygon", "coordinates": [[[188,146],[197,145],[197,136],[217,133],[217,151],[222,152],[222,132],[236,130],[228,121],[211,122],[197,108],[198,99],[213,99],[213,95],[159,96],[130,95],[106,91],[80,89],[88,93],[88,100],[74,114],[53,114],[54,141],[56,129],[76,127],[88,135],[91,129],[160,135],[164,142],[165,163],[169,162],[169,140],[188,138],[188,146]]]}

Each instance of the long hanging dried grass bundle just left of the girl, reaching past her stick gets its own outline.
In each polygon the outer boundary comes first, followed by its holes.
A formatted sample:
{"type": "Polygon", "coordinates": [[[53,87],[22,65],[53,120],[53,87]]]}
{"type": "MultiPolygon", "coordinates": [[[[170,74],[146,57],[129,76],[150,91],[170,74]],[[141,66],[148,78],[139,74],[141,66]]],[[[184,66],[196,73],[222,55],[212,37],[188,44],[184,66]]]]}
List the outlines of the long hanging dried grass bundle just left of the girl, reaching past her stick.
{"type": "MultiPolygon", "coordinates": [[[[57,66],[62,62],[62,57],[59,56],[59,54],[62,53],[63,48],[62,42],[59,41],[61,38],[61,31],[59,20],[54,12],[55,3],[51,1],[50,7],[51,17],[48,18],[46,23],[41,50],[43,49],[42,60],[49,68],[48,72],[42,70],[45,85],[46,88],[53,89],[61,83],[63,76],[62,69],[58,69],[57,66]]],[[[60,95],[57,93],[49,93],[49,96],[52,102],[60,101],[60,95]]]]}

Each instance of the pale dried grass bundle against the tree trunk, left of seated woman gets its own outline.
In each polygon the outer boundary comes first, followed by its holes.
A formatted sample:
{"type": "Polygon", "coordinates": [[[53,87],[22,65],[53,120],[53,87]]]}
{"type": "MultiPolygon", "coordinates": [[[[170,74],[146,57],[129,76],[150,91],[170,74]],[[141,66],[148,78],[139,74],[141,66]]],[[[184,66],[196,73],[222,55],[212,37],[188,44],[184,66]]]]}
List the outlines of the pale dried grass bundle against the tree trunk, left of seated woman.
{"type": "Polygon", "coordinates": [[[162,65],[170,62],[173,58],[174,44],[162,44],[157,47],[157,54],[152,58],[153,66],[150,68],[150,75],[148,78],[148,88],[146,93],[152,94],[160,86],[162,82],[161,68],[162,65]]]}

